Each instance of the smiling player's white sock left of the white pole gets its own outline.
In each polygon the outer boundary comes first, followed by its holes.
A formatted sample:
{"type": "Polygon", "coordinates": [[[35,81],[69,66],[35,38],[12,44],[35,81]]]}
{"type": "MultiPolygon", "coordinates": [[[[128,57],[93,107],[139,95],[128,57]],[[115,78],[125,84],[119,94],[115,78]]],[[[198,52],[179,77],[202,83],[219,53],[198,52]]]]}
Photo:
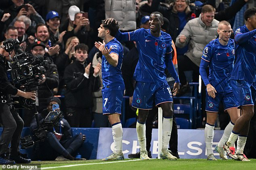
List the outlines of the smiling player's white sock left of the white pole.
{"type": "Polygon", "coordinates": [[[137,122],[136,131],[138,136],[138,144],[140,145],[140,151],[146,152],[146,124],[137,122]]]}

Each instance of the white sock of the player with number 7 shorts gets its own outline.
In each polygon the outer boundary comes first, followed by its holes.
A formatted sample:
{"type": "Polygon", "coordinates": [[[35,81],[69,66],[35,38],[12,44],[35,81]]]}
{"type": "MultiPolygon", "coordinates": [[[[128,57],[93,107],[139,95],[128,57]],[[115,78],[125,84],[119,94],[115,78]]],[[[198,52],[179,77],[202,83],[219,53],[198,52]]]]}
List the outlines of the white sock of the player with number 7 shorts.
{"type": "Polygon", "coordinates": [[[122,138],[123,138],[123,128],[122,124],[118,123],[112,126],[112,134],[115,145],[115,153],[122,154],[122,138]]]}

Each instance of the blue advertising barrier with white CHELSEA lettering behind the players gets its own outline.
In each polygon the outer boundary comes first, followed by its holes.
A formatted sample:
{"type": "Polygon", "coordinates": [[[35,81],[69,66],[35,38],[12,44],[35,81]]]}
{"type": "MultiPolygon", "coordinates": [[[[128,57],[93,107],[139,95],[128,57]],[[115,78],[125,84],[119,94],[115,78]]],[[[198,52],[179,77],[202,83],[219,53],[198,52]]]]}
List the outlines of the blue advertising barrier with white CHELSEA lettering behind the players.
{"type": "MultiPolygon", "coordinates": [[[[113,138],[111,128],[71,128],[73,135],[82,133],[86,135],[84,145],[79,149],[82,158],[88,160],[102,159],[113,152],[113,138]]],[[[128,154],[139,151],[135,128],[123,129],[123,153],[128,158],[128,154]]],[[[2,128],[0,128],[2,133],[2,128]]],[[[213,149],[222,136],[222,130],[214,131],[213,149]]],[[[31,135],[29,128],[23,128],[22,137],[31,135]]],[[[153,129],[151,141],[151,153],[153,158],[157,158],[157,129],[153,129]]],[[[26,153],[29,158],[32,156],[33,148],[21,149],[21,153],[26,153]]],[[[178,129],[178,151],[183,159],[206,159],[206,145],[204,141],[204,130],[199,129],[178,129]]],[[[218,155],[214,151],[214,155],[218,155]]]]}

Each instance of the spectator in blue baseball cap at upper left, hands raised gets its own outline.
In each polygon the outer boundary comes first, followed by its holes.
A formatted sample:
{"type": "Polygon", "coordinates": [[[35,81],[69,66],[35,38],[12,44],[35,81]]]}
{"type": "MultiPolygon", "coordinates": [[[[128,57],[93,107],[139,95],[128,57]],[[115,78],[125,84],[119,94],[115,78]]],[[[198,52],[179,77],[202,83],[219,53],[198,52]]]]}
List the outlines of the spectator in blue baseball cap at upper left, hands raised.
{"type": "Polygon", "coordinates": [[[61,42],[66,31],[59,33],[60,17],[58,12],[54,10],[48,12],[46,15],[46,24],[49,27],[50,41],[52,45],[59,44],[59,46],[61,46],[61,42]]]}

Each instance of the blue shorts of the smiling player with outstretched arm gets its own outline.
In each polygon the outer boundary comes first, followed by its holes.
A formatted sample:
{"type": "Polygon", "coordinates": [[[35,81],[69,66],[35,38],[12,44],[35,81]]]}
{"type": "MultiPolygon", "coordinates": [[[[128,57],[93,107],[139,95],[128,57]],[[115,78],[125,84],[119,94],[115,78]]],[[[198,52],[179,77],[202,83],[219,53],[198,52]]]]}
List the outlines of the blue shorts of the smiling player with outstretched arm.
{"type": "Polygon", "coordinates": [[[172,92],[168,83],[137,81],[133,93],[132,106],[139,109],[152,109],[154,101],[155,106],[165,102],[172,102],[172,92]]]}

